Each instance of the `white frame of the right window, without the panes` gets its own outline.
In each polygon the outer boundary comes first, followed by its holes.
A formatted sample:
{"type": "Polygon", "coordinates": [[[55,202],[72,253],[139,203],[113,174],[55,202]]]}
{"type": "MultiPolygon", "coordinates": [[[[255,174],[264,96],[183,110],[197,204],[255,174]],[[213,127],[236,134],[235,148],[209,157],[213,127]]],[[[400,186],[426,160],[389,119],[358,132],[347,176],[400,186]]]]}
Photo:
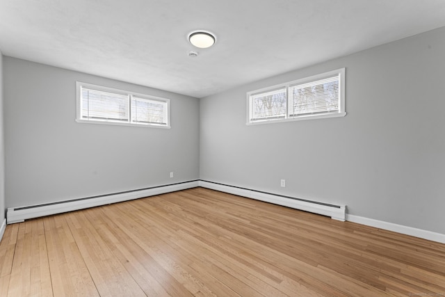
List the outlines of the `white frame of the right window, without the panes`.
{"type": "Polygon", "coordinates": [[[346,115],[346,109],[345,109],[345,77],[346,77],[346,68],[340,68],[337,70],[332,70],[329,72],[324,72],[322,74],[316,74],[312,77],[305,77],[303,79],[297,79],[296,81],[289,81],[286,83],[280,83],[275,86],[270,86],[267,88],[261,88],[259,90],[253,90],[247,93],[247,125],[261,125],[261,124],[270,124],[275,122],[291,122],[291,121],[298,121],[298,120],[315,120],[315,119],[321,119],[321,118],[337,118],[337,117],[344,117],[346,115]],[[305,83],[311,83],[315,81],[321,81],[323,79],[327,79],[330,77],[337,76],[339,77],[339,109],[337,112],[329,112],[329,113],[316,113],[316,114],[303,114],[303,115],[290,115],[291,111],[289,111],[289,104],[290,104],[290,95],[289,95],[289,88],[297,85],[302,85],[305,83]],[[286,90],[286,114],[284,115],[284,118],[277,118],[277,117],[270,117],[270,118],[264,118],[264,119],[254,119],[253,116],[253,102],[252,100],[254,97],[270,93],[273,90],[282,89],[284,88],[286,90]]]}

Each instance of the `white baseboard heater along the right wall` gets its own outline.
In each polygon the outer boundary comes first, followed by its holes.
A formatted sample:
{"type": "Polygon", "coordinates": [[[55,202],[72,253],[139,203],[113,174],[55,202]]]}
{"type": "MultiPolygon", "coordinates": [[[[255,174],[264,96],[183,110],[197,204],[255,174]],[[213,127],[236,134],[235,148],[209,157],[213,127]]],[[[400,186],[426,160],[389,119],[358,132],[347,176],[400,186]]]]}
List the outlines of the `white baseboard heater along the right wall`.
{"type": "Polygon", "coordinates": [[[218,184],[214,182],[206,182],[200,180],[200,186],[203,188],[211,188],[216,191],[239,195],[255,200],[261,200],[273,204],[282,205],[285,207],[291,207],[294,209],[300,209],[309,211],[314,214],[322,214],[323,216],[330,216],[334,220],[346,220],[346,206],[330,206],[328,204],[319,204],[317,202],[306,202],[302,200],[296,200],[292,198],[286,198],[280,195],[273,195],[270,193],[264,193],[259,191],[253,191],[246,188],[239,188],[236,186],[228,186],[225,184],[218,184]]]}

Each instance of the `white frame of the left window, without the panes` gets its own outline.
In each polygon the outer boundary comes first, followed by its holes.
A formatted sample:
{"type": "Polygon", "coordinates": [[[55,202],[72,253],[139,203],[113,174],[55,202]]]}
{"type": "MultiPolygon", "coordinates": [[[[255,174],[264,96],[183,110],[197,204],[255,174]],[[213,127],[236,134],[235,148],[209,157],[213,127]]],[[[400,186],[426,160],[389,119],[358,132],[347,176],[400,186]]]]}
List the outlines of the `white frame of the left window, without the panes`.
{"type": "Polygon", "coordinates": [[[99,124],[99,125],[118,125],[118,126],[132,126],[132,127],[155,127],[155,128],[166,128],[170,129],[170,99],[165,99],[162,97],[156,97],[152,95],[146,95],[141,93],[135,93],[130,92],[127,90],[120,90],[116,88],[108,88],[104,86],[97,86],[92,83],[83,83],[81,81],[76,81],[76,122],[79,123],[88,123],[88,124],[99,124]],[[107,119],[85,119],[82,118],[82,88],[88,88],[92,90],[99,90],[103,92],[108,93],[114,93],[114,94],[120,94],[120,95],[128,95],[129,102],[128,102],[128,113],[129,117],[127,122],[122,122],[118,120],[107,120],[107,119]],[[166,105],[165,113],[166,113],[166,123],[165,124],[159,124],[159,123],[152,123],[152,122],[133,122],[132,116],[131,116],[131,102],[133,101],[133,97],[136,97],[137,99],[145,99],[149,101],[157,101],[162,102],[166,105]]]}

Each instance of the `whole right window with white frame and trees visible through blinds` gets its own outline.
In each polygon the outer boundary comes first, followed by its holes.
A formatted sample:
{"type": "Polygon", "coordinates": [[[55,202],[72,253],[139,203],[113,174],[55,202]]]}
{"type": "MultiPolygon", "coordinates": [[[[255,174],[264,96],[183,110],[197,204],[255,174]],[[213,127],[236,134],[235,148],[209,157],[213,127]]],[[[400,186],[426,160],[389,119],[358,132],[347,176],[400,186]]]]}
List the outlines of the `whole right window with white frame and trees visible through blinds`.
{"type": "Polygon", "coordinates": [[[248,93],[248,125],[345,116],[345,68],[248,93]]]}

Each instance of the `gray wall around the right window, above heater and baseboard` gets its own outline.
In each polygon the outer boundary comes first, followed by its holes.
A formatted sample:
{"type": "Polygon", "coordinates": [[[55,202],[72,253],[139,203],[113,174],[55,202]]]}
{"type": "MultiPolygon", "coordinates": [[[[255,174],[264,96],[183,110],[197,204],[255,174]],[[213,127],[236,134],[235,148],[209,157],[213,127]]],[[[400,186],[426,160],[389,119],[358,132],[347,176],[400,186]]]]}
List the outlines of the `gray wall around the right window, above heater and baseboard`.
{"type": "Polygon", "coordinates": [[[442,28],[201,99],[200,179],[445,234],[444,53],[442,28]],[[346,117],[245,125],[246,92],[341,67],[346,117]]]}

